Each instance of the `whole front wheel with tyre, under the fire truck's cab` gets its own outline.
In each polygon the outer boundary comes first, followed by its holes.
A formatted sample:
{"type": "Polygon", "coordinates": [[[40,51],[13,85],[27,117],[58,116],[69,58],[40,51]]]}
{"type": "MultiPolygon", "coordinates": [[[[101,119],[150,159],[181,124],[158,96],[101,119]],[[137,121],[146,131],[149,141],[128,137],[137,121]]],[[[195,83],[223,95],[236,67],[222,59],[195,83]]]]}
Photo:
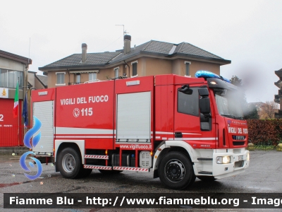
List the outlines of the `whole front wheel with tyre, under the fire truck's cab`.
{"type": "Polygon", "coordinates": [[[171,189],[185,189],[195,181],[192,164],[183,153],[166,154],[158,171],[161,182],[171,189]]]}

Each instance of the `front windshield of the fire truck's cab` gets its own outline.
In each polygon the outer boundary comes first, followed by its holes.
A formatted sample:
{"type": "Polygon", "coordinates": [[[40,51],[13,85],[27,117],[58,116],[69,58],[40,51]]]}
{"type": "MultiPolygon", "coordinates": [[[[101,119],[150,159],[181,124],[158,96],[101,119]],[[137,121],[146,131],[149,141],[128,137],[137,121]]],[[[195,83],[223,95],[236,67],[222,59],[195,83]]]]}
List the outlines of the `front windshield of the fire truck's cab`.
{"type": "Polygon", "coordinates": [[[238,93],[232,90],[214,90],[217,110],[223,117],[232,119],[244,119],[238,93]]]}

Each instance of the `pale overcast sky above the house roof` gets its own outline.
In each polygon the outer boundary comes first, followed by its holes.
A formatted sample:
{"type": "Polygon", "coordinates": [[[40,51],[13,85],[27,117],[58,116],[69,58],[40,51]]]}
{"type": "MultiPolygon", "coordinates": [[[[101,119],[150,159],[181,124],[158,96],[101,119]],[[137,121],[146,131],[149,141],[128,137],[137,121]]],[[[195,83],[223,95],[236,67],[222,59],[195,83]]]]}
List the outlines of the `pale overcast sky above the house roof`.
{"type": "Polygon", "coordinates": [[[30,71],[81,52],[123,48],[149,40],[188,42],[231,60],[247,102],[274,100],[282,69],[282,1],[1,1],[0,49],[32,59],[30,71]],[[30,48],[29,48],[30,47],[30,48]],[[29,51],[30,49],[30,51],[29,51]],[[30,52],[30,53],[29,53],[30,52]]]}

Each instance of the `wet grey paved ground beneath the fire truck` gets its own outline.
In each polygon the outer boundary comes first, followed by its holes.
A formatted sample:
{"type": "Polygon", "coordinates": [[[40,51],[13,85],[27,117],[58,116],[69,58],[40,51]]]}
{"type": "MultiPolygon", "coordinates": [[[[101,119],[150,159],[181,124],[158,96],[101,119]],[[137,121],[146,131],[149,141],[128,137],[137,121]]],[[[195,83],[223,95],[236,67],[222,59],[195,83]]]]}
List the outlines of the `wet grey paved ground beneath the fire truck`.
{"type": "MultiPolygon", "coordinates": [[[[250,167],[243,174],[218,179],[215,182],[202,182],[196,179],[192,187],[185,191],[167,189],[159,179],[153,179],[152,172],[123,172],[119,175],[102,175],[99,171],[93,170],[90,177],[84,179],[64,179],[59,172],[54,172],[54,166],[51,164],[43,164],[42,178],[30,181],[23,175],[24,170],[20,167],[17,157],[12,155],[0,157],[0,211],[4,210],[3,194],[13,192],[282,193],[282,152],[277,151],[252,151],[250,153],[250,167]]],[[[48,210],[44,209],[44,211],[48,210]]],[[[90,210],[81,209],[80,211],[90,210]]]]}

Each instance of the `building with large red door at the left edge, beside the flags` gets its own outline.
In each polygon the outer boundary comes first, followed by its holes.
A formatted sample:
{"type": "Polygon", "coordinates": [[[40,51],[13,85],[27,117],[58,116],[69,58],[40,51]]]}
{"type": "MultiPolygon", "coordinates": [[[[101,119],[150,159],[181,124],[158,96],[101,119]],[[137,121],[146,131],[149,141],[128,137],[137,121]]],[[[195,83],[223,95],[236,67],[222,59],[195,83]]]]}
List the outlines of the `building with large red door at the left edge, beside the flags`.
{"type": "Polygon", "coordinates": [[[23,99],[27,91],[27,70],[32,60],[0,50],[0,146],[23,146],[23,99]],[[18,117],[13,117],[14,98],[19,85],[18,117]]]}

